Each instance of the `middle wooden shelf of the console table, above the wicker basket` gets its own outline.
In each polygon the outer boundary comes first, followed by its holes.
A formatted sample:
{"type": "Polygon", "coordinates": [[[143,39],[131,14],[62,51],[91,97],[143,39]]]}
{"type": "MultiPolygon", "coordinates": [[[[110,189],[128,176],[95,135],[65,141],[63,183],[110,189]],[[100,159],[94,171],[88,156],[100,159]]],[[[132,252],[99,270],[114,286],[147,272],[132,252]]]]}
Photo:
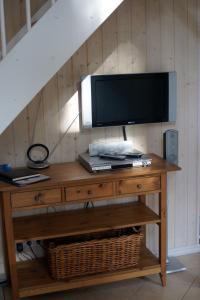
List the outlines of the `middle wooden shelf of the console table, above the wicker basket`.
{"type": "Polygon", "coordinates": [[[14,218],[14,236],[19,243],[159,222],[157,214],[136,202],[14,218]]]}

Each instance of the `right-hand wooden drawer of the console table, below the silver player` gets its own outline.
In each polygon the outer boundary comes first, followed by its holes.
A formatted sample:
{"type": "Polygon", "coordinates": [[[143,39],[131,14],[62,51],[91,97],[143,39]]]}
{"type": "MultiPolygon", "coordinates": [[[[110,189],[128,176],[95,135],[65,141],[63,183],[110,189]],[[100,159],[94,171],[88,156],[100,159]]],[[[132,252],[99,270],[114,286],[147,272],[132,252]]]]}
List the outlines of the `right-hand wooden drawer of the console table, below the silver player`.
{"type": "Polygon", "coordinates": [[[160,189],[160,177],[138,177],[133,179],[125,179],[117,182],[117,195],[126,195],[133,193],[141,193],[155,191],[160,189]]]}

